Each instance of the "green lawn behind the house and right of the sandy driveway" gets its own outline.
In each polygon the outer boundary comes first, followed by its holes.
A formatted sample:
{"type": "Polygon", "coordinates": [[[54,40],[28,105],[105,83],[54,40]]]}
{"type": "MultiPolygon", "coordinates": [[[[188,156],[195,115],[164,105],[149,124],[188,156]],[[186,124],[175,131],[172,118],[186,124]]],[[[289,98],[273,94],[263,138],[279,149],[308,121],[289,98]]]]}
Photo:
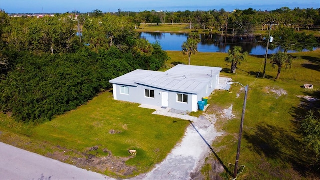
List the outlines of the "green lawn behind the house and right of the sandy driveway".
{"type": "MultiPolygon", "coordinates": [[[[187,55],[180,51],[168,52],[170,64],[188,63],[187,55]]],[[[316,169],[309,165],[312,155],[307,153],[299,131],[301,119],[311,106],[319,107],[319,101],[309,102],[306,96],[320,99],[320,50],[292,53],[291,69],[282,69],[279,80],[275,80],[277,68],[272,68],[269,60],[266,78],[256,78],[263,72],[263,57],[248,56],[247,61],[238,66],[236,74],[230,74],[230,64],[224,62],[226,53],[197,53],[191,56],[191,65],[219,66],[221,76],[248,84],[248,98],[244,117],[244,127],[239,165],[244,165],[241,179],[318,179],[316,169]],[[304,89],[305,83],[314,89],[304,89]]],[[[226,167],[225,178],[233,174],[237,152],[238,133],[243,107],[244,91],[234,84],[230,91],[216,90],[211,94],[207,113],[221,113],[232,106],[234,118],[218,119],[216,128],[224,135],[212,144],[217,156],[226,167]]],[[[208,166],[208,164],[206,165],[208,166]]],[[[204,167],[206,167],[204,166],[204,167]]],[[[204,173],[210,170],[202,169],[204,173]]]]}

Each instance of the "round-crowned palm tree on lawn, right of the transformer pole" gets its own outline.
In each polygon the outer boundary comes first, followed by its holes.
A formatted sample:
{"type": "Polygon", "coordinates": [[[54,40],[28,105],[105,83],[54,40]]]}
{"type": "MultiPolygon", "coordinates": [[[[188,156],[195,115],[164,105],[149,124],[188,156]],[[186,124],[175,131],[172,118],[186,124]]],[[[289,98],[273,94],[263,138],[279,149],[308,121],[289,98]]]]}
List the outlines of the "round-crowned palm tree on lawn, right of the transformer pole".
{"type": "Polygon", "coordinates": [[[271,57],[272,67],[275,68],[275,66],[278,66],[278,74],[276,75],[275,79],[280,78],[281,68],[284,65],[285,69],[291,68],[291,56],[287,54],[286,52],[277,52],[271,57]]]}

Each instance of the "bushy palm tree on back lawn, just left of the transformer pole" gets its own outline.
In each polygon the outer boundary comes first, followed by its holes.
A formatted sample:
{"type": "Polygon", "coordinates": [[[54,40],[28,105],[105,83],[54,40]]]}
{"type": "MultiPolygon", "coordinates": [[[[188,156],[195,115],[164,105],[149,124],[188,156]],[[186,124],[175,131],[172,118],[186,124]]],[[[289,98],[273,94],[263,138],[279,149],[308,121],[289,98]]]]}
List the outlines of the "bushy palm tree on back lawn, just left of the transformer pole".
{"type": "Polygon", "coordinates": [[[231,62],[231,73],[235,73],[236,66],[241,64],[242,61],[246,59],[248,55],[247,52],[241,53],[242,48],[240,46],[235,46],[233,50],[228,50],[228,56],[225,57],[226,62],[231,62]]]}

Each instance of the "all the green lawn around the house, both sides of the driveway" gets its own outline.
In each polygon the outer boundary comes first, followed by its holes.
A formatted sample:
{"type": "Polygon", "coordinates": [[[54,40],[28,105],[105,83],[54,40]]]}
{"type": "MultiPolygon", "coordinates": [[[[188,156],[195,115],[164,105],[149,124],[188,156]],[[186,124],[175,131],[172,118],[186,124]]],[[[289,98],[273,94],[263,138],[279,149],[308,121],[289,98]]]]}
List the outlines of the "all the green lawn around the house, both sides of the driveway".
{"type": "MultiPolygon", "coordinates": [[[[168,51],[168,55],[170,60],[165,69],[173,64],[187,64],[188,57],[181,51],[168,51]]],[[[298,96],[320,98],[320,50],[292,55],[292,69],[283,69],[280,80],[274,79],[277,69],[269,63],[266,78],[256,78],[263,71],[263,57],[248,56],[248,60],[238,66],[236,74],[230,74],[230,64],[224,62],[226,53],[191,56],[191,65],[222,67],[221,76],[249,85],[239,161],[246,167],[240,174],[241,179],[318,179],[318,174],[308,166],[312,158],[303,150],[298,131],[309,103],[298,96]],[[314,89],[301,88],[305,83],[312,83],[314,89]],[[284,93],[277,95],[273,90],[284,93]]],[[[214,91],[208,102],[211,105],[207,113],[220,113],[221,109],[232,105],[236,116],[231,120],[218,119],[216,127],[224,131],[224,135],[212,144],[227,168],[222,173],[225,178],[230,177],[228,171],[232,171],[232,167],[228,163],[234,163],[236,156],[244,95],[240,87],[235,84],[230,92],[214,91]]],[[[139,108],[135,103],[113,100],[112,93],[104,92],[76,110],[39,125],[17,123],[1,113],[1,141],[42,155],[66,150],[70,157],[65,161],[71,164],[71,156],[82,157],[93,146],[99,147],[96,156],[107,155],[102,149],[108,149],[116,157],[127,157],[127,150],[134,148],[138,155],[126,161],[127,165],[137,167],[128,175],[132,176],[150,170],[163,160],[189,124],[151,115],[152,111],[139,108]],[[110,130],[119,133],[110,134],[110,130]]],[[[217,159],[213,153],[210,158],[217,159]]],[[[204,167],[202,173],[211,173],[209,165],[204,167]]],[[[111,170],[102,173],[121,176],[111,170]]]]}

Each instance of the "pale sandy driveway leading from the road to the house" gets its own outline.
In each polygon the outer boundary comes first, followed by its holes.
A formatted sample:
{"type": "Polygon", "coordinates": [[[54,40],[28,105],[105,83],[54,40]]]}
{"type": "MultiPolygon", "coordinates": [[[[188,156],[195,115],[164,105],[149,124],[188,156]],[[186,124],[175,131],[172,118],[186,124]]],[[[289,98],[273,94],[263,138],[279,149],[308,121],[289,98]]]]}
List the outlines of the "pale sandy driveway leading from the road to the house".
{"type": "Polygon", "coordinates": [[[215,116],[200,116],[190,123],[181,142],[154,169],[131,179],[191,179],[190,175],[210,152],[208,144],[222,133],[214,128],[215,116]]]}

